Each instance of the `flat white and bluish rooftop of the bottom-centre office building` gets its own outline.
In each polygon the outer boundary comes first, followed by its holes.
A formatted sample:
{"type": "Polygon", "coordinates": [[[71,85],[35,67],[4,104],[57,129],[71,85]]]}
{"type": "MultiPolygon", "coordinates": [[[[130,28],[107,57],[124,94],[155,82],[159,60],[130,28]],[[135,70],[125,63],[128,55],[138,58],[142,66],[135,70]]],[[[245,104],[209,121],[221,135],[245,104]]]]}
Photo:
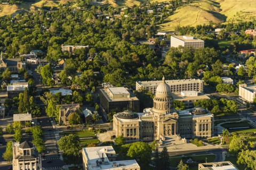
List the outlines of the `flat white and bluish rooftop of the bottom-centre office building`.
{"type": "Polygon", "coordinates": [[[108,160],[107,154],[116,154],[112,146],[83,148],[83,152],[84,155],[87,157],[87,164],[89,166],[89,170],[139,168],[136,160],[119,160],[115,162],[110,162],[108,160]],[[104,163],[102,162],[102,158],[104,158],[104,163]],[[97,162],[99,163],[98,166],[97,162]],[[116,165],[116,167],[114,165],[116,165]]]}

